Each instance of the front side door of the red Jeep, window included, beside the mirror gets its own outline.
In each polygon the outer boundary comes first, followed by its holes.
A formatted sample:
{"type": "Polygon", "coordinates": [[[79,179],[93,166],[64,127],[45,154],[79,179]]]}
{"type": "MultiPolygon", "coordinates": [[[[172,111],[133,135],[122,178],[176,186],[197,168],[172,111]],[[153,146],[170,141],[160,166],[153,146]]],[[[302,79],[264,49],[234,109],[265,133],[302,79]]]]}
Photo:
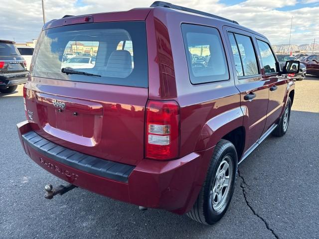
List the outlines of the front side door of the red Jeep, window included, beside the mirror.
{"type": "Polygon", "coordinates": [[[276,57],[270,43],[265,39],[256,39],[259,58],[262,64],[262,77],[269,85],[269,103],[267,108],[265,133],[280,117],[287,94],[289,78],[286,75],[279,75],[280,69],[276,69],[276,57]]]}

